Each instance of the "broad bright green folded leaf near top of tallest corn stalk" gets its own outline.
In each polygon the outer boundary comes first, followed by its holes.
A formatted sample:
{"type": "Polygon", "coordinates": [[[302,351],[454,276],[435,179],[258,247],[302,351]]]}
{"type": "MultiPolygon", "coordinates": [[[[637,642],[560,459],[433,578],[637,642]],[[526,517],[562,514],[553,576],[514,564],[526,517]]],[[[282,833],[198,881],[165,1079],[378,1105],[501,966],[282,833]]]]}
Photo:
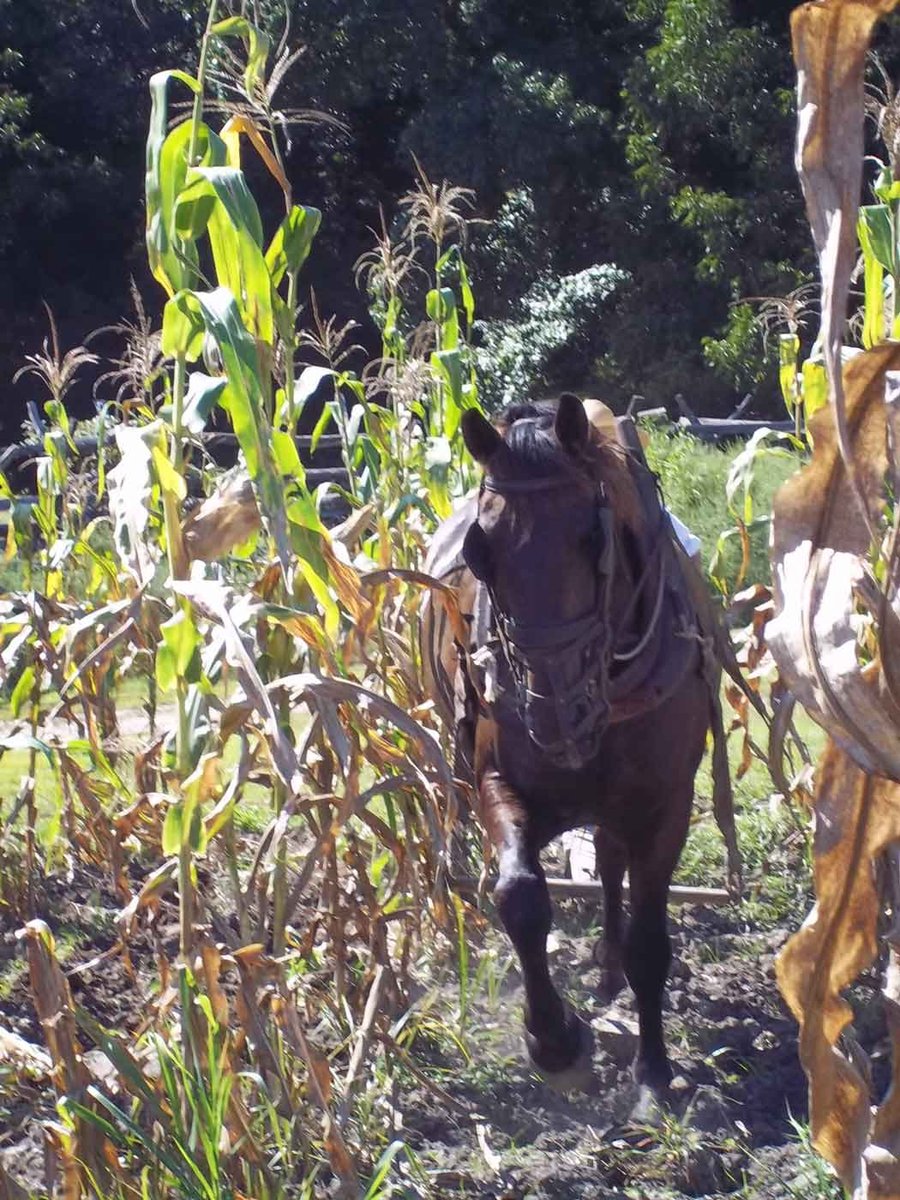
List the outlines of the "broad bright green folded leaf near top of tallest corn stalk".
{"type": "Polygon", "coordinates": [[[244,324],[269,344],[275,337],[272,284],[262,251],[263,223],[242,170],[198,167],[175,205],[186,241],[209,234],[216,278],[238,300],[244,324]]]}

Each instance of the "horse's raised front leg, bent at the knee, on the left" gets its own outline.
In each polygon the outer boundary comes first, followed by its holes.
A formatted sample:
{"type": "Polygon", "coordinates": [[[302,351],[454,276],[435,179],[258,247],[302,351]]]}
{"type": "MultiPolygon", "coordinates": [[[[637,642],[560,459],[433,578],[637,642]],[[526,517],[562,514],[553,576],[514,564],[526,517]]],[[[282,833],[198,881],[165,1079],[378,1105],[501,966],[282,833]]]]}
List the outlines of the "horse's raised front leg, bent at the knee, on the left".
{"type": "Polygon", "coordinates": [[[593,1039],[550,977],[550,893],[527,811],[496,774],[481,781],[480,799],[482,821],[499,860],[493,899],[522,967],[528,1052],[551,1081],[560,1086],[583,1085],[590,1073],[593,1039]]]}

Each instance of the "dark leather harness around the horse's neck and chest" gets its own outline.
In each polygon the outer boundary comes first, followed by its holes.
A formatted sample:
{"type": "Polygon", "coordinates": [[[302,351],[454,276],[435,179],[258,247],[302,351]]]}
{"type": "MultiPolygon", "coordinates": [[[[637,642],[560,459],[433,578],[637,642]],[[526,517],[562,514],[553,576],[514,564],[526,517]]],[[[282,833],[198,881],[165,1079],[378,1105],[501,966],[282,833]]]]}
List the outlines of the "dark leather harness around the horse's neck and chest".
{"type": "MultiPolygon", "coordinates": [[[[688,595],[674,532],[659,494],[655,476],[634,448],[626,448],[647,517],[638,551],[638,578],[629,605],[613,628],[610,600],[616,546],[613,514],[602,484],[596,487],[600,553],[596,563],[598,601],[581,617],[556,624],[522,623],[503,612],[487,583],[488,628],[473,620],[469,647],[458,647],[456,691],[457,739],[469,742],[478,715],[512,704],[530,740],[556,766],[577,769],[599,751],[610,724],[655,708],[700,664],[698,623],[688,595]],[[653,589],[652,606],[646,599],[653,589]],[[643,624],[631,644],[623,644],[625,626],[643,606],[643,624]],[[538,692],[529,677],[540,671],[546,691],[538,692]],[[462,710],[460,710],[462,708],[462,710]]],[[[528,493],[571,486],[566,476],[497,480],[487,475],[481,491],[528,493]]],[[[479,496],[481,494],[479,492],[479,496]]],[[[479,605],[476,604],[478,608],[479,605]]],[[[472,762],[469,746],[462,760],[472,762]]]]}

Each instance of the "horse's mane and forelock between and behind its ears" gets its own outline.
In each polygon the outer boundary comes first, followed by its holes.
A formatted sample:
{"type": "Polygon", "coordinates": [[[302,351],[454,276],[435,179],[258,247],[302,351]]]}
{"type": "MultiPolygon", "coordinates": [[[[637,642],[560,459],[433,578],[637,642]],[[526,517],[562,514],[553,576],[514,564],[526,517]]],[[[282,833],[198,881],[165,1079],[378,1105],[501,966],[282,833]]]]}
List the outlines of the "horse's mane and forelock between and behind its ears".
{"type": "Polygon", "coordinates": [[[497,428],[510,455],[526,474],[570,474],[602,484],[614,515],[634,533],[643,527],[643,506],[628,464],[626,450],[599,422],[590,420],[590,437],[580,457],[568,454],[553,436],[557,406],[539,401],[508,404],[497,428]]]}

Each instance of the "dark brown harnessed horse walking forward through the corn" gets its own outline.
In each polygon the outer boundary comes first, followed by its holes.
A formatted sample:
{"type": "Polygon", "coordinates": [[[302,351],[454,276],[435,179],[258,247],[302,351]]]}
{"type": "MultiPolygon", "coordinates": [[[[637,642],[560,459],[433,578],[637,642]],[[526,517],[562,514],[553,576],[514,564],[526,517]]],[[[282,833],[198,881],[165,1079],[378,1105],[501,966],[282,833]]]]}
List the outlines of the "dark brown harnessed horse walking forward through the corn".
{"type": "Polygon", "coordinates": [[[522,967],[528,1051],[562,1086],[583,1081],[592,1037],[551,980],[539,853],[594,826],[601,990],[611,998],[631,985],[634,1074],[659,1096],[671,1079],[667,894],[709,726],[679,551],[640,449],[601,433],[577,397],[512,406],[497,427],[469,410],[462,432],[485,475],[436,535],[430,569],[457,584],[472,643],[454,650],[438,601],[422,638],[497,853],[493,898],[522,967]]]}

